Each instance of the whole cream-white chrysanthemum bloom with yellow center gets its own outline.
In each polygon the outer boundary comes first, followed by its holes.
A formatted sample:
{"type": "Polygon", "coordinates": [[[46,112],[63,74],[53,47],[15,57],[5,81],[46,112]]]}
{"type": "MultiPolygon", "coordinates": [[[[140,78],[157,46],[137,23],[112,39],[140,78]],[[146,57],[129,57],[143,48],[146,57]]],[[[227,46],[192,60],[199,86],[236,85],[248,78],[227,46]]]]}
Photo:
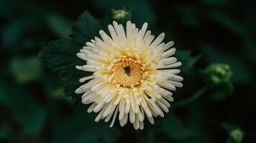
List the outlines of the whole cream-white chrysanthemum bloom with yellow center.
{"type": "Polygon", "coordinates": [[[183,87],[183,77],[176,75],[180,70],[173,69],[181,62],[170,57],[175,54],[175,48],[170,48],[174,42],[162,42],[164,33],[154,40],[147,23],[139,30],[127,21],[126,33],[116,21],[108,28],[111,37],[101,30],[101,39],[86,42],[77,54],[86,64],[76,69],[93,74],[80,79],[90,81],[76,89],[76,94],[83,93],[83,104],[91,104],[88,112],[99,112],[95,122],[109,122],[113,117],[112,127],[117,117],[122,127],[129,120],[134,129],[143,129],[146,117],[154,124],[153,117],[169,112],[170,91],[183,87]]]}

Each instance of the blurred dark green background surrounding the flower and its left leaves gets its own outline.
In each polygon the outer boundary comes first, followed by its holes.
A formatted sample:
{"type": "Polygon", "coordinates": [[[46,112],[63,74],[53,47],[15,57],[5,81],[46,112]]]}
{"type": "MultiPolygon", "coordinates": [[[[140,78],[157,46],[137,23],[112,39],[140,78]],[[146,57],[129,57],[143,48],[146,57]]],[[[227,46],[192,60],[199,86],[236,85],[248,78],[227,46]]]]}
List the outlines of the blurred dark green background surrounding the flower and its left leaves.
{"type": "Polygon", "coordinates": [[[0,142],[256,142],[255,5],[250,0],[0,0],[0,142]],[[93,122],[96,114],[65,97],[63,80],[38,58],[47,42],[70,36],[83,11],[106,26],[113,9],[126,9],[139,27],[147,21],[152,34],[165,32],[183,61],[184,86],[174,92],[173,107],[155,124],[145,121],[142,131],[131,124],[109,128],[93,122]],[[209,78],[216,72],[223,75],[209,78]],[[219,84],[222,79],[226,82],[219,84]]]}

